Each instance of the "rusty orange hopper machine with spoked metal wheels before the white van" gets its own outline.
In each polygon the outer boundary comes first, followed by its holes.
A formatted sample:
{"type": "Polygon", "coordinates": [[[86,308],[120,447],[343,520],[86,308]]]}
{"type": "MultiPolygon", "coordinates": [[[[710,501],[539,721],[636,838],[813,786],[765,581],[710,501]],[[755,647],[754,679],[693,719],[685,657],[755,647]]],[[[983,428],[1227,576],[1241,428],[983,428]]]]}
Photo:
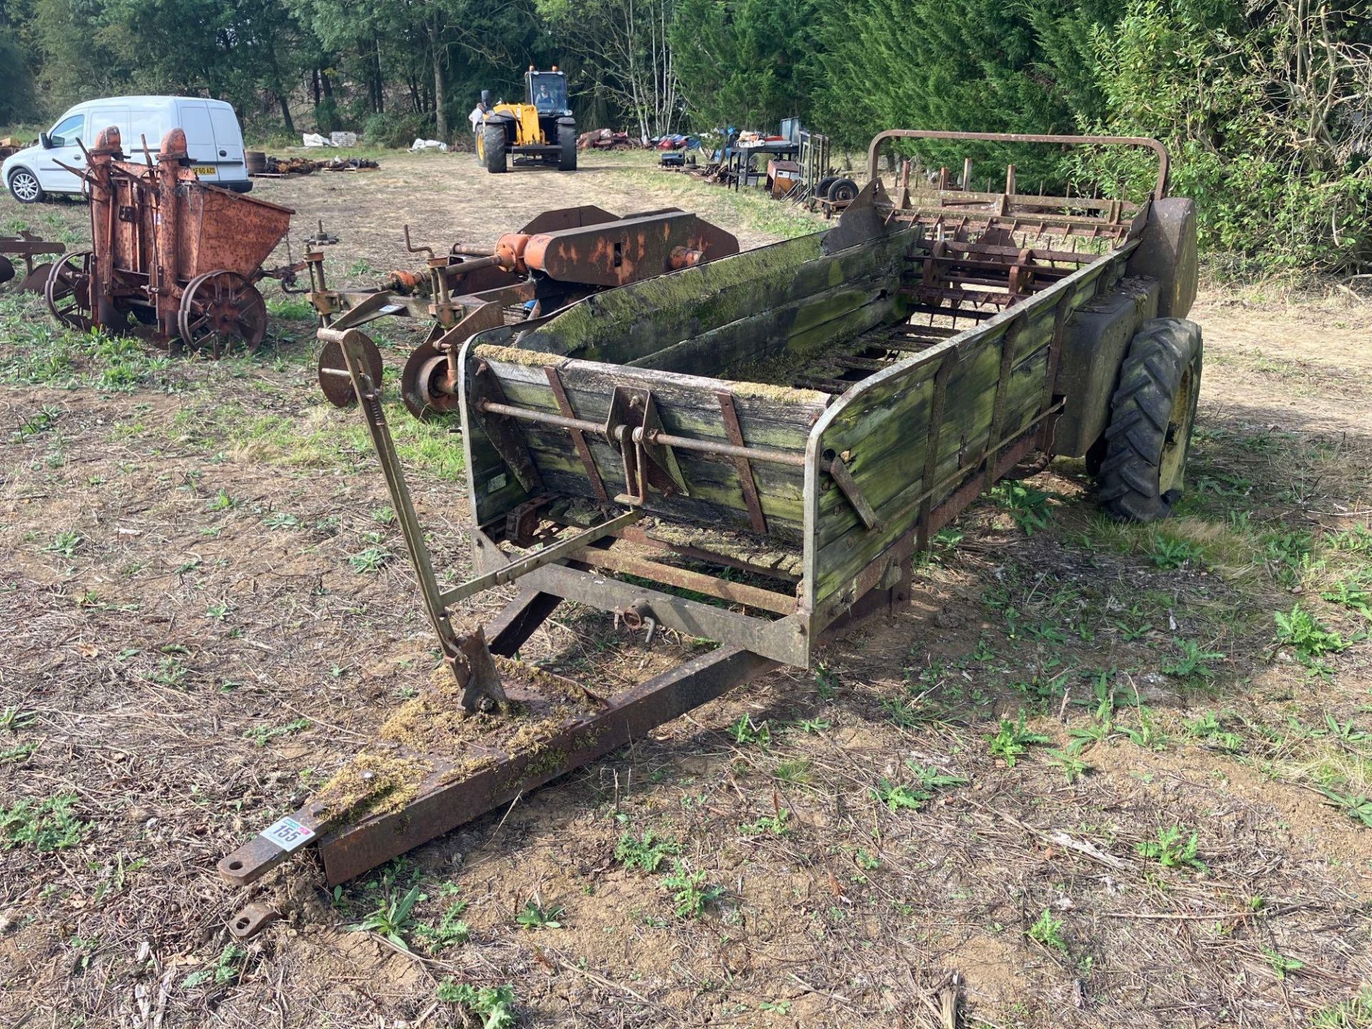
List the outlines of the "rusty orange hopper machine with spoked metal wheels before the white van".
{"type": "Polygon", "coordinates": [[[255,350],[266,305],[255,283],[294,281],[303,265],[266,272],[285,236],[288,207],[200,182],[185,133],[162,139],[156,162],[123,159],[119,130],[103,129],[81,176],[91,196],[91,250],[54,262],[44,294],[59,321],[133,331],[161,347],[177,340],[211,357],[255,350]]]}

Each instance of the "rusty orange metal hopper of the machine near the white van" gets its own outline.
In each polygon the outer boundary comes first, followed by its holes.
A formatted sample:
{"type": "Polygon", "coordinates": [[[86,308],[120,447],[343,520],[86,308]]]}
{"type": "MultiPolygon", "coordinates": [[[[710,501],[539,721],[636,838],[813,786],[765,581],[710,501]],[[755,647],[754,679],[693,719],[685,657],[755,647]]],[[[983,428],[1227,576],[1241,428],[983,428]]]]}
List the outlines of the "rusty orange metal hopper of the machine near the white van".
{"type": "Polygon", "coordinates": [[[291,226],[291,210],[202,182],[182,182],[177,279],[226,269],[251,277],[291,226]]]}

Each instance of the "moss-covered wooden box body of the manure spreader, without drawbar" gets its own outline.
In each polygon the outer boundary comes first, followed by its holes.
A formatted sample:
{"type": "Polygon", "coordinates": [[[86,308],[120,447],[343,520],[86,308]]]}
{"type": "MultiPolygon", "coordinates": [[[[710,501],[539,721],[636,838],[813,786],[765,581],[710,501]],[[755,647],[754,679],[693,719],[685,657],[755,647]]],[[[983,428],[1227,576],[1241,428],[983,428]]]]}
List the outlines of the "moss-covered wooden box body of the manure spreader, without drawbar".
{"type": "MultiPolygon", "coordinates": [[[[771,561],[745,569],[774,595],[733,611],[613,582],[576,589],[580,602],[805,665],[826,630],[904,601],[915,550],[980,493],[1034,453],[1098,443],[1135,329],[1194,295],[1190,202],[1024,198],[1013,170],[1008,189],[919,206],[874,180],[827,233],[472,336],[461,412],[479,571],[505,563],[512,519],[541,504],[556,517],[575,497],[690,527],[696,550],[727,528],[799,558],[781,579],[771,561]],[[1177,252],[1161,255],[1179,220],[1177,252]],[[620,425],[642,429],[635,446],[620,425]]],[[[653,578],[616,546],[578,560],[653,578]]],[[[552,565],[523,584],[573,583],[552,565]]],[[[730,586],[713,595],[741,600],[730,586]]]]}

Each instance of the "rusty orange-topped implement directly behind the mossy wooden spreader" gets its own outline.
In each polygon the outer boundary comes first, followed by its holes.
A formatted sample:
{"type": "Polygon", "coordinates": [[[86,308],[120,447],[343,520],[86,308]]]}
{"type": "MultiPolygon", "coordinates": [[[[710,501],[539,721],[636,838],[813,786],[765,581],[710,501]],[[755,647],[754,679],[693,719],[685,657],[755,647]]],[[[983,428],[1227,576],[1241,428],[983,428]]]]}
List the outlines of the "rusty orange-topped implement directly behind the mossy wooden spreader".
{"type": "MultiPolygon", "coordinates": [[[[324,329],[339,332],[387,316],[434,320],[401,379],[405,405],[420,418],[457,410],[456,355],[473,332],[516,321],[532,329],[602,289],[738,252],[734,236],[676,207],[624,217],[594,206],[564,207],[506,232],[494,246],[457,243],[442,257],[413,246],[409,226],[405,243],[412,252],[428,254],[425,266],[391,272],[380,289],[329,289],[324,255],[310,252],[305,261],[324,329]]],[[[380,381],[375,347],[366,361],[372,380],[380,381]]],[[[339,406],[354,397],[343,354],[329,340],[320,354],[320,387],[339,406]]]]}

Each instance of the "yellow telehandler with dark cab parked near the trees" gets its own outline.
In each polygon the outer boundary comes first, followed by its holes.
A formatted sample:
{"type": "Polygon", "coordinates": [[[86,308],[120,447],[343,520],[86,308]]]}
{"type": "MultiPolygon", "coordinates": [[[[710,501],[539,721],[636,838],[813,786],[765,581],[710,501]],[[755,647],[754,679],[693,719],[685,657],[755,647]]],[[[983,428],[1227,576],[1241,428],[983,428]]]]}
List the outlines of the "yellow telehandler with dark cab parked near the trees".
{"type": "Polygon", "coordinates": [[[567,106],[567,75],[554,64],[539,71],[532,64],[524,73],[525,100],[494,107],[490,92],[482,92],[480,119],[473,121],[476,159],[487,172],[506,172],[508,158],[532,158],[557,165],[558,172],[576,170],[576,119],[567,106]]]}

